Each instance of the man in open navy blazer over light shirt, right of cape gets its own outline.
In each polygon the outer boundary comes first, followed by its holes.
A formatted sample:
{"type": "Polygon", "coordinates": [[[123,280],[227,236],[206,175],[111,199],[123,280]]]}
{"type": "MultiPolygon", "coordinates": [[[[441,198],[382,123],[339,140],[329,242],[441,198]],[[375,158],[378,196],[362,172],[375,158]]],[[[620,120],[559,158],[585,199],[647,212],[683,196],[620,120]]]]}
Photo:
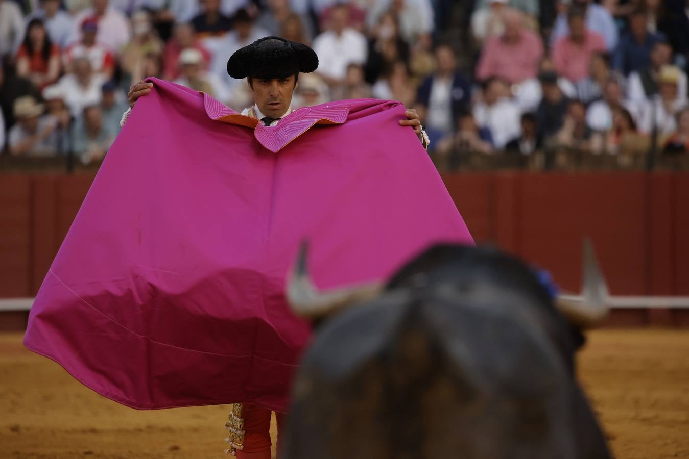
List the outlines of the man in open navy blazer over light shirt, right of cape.
{"type": "Polygon", "coordinates": [[[452,133],[460,116],[469,111],[469,78],[457,70],[457,58],[449,45],[435,48],[435,72],[426,78],[416,93],[426,132],[435,140],[452,133]]]}

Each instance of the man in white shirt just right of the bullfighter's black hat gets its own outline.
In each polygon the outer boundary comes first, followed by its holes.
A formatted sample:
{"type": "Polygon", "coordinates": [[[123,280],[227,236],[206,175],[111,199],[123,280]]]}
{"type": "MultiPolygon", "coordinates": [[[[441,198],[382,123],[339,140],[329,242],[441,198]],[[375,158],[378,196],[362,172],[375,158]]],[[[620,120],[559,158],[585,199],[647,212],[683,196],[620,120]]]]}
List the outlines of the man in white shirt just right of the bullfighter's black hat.
{"type": "Polygon", "coordinates": [[[366,38],[347,27],[348,21],[347,6],[338,4],[331,10],[329,30],[313,40],[313,50],[318,55],[318,72],[333,87],[344,80],[347,65],[363,64],[367,58],[366,38]]]}

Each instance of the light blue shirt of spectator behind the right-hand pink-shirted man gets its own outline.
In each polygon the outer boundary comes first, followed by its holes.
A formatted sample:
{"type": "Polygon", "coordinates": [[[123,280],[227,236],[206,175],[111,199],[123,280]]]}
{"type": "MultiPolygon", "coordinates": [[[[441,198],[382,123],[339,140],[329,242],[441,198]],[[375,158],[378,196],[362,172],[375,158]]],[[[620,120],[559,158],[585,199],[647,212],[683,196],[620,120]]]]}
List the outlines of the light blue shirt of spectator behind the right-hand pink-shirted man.
{"type": "MultiPolygon", "coordinates": [[[[586,29],[591,32],[596,32],[604,38],[605,49],[608,52],[613,52],[617,46],[617,25],[613,15],[598,3],[593,3],[591,0],[560,0],[561,3],[571,5],[569,9],[576,8],[584,10],[586,29]]],[[[551,34],[551,43],[556,43],[558,39],[563,38],[569,34],[568,12],[561,12],[555,19],[553,26],[553,33],[551,34]]]]}

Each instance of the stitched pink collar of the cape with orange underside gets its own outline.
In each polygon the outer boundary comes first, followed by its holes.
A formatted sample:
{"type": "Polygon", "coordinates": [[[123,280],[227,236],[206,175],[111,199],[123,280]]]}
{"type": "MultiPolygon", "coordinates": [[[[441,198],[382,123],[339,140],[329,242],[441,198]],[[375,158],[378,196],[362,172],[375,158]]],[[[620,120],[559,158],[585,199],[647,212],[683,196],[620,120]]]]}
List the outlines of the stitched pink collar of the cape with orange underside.
{"type": "Polygon", "coordinates": [[[302,107],[282,118],[277,126],[264,126],[256,118],[238,114],[212,96],[203,93],[203,105],[206,114],[212,120],[229,122],[234,125],[254,129],[256,140],[273,153],[277,153],[289,142],[304,134],[315,125],[341,125],[347,121],[348,107],[336,107],[327,104],[314,107],[302,107]]]}

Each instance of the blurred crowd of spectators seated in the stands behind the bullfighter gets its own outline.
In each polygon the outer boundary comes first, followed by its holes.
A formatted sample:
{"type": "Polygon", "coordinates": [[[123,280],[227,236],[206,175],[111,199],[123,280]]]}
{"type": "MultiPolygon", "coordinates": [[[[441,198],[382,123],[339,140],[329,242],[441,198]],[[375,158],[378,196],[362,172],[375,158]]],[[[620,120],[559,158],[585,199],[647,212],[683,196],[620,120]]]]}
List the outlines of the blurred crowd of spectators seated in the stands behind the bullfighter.
{"type": "Polygon", "coordinates": [[[227,58],[268,35],[318,54],[292,109],[400,100],[442,164],[689,156],[689,0],[0,0],[0,149],[98,162],[147,76],[240,111],[227,58]]]}

